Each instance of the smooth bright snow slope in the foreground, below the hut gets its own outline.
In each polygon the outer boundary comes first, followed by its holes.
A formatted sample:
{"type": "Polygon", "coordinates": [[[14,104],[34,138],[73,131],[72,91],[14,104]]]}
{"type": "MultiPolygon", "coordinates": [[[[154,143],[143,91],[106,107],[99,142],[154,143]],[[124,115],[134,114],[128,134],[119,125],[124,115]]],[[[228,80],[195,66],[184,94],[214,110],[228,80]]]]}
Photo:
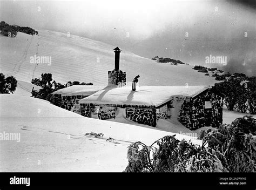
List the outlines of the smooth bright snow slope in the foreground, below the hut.
{"type": "Polygon", "coordinates": [[[0,103],[0,133],[21,134],[19,142],[1,140],[1,172],[122,172],[132,142],[151,144],[174,134],[85,118],[37,98],[0,94],[0,103]],[[91,132],[104,137],[85,135],[91,132]]]}

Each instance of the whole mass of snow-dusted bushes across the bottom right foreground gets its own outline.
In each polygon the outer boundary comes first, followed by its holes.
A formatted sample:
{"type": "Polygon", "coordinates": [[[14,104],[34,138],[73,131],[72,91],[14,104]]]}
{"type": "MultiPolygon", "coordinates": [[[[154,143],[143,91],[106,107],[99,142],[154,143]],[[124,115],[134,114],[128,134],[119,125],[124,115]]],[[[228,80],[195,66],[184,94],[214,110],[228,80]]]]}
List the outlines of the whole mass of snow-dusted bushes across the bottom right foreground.
{"type": "Polygon", "coordinates": [[[252,117],[237,118],[218,130],[200,132],[202,146],[175,135],[150,146],[134,142],[128,147],[125,172],[255,172],[255,122],[252,117]]]}

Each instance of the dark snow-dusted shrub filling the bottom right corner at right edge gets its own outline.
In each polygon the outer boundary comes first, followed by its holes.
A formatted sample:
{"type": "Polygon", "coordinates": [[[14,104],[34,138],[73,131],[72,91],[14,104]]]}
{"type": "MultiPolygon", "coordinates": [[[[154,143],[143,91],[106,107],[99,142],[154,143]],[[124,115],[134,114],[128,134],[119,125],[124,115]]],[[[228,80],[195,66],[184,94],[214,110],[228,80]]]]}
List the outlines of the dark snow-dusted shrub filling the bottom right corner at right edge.
{"type": "Polygon", "coordinates": [[[222,153],[228,162],[230,172],[255,172],[256,119],[245,116],[235,119],[230,125],[222,125],[218,130],[208,133],[203,145],[222,153]]]}

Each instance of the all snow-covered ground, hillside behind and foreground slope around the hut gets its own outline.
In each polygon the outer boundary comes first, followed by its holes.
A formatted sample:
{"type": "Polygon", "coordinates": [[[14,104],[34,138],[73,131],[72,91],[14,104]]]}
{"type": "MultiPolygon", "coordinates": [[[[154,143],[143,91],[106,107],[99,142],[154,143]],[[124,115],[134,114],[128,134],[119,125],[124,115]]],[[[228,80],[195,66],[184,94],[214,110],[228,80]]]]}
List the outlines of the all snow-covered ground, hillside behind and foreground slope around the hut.
{"type": "MultiPolygon", "coordinates": [[[[124,110],[119,110],[116,119],[103,121],[30,97],[33,87],[40,89],[30,81],[42,73],[52,73],[60,83],[79,81],[106,86],[107,71],[114,69],[114,48],[96,40],[47,30],[39,30],[39,36],[21,32],[16,38],[0,35],[0,73],[18,79],[14,94],[0,94],[0,133],[21,135],[18,142],[0,140],[0,172],[122,172],[127,165],[127,146],[132,142],[149,145],[176,133],[180,140],[201,144],[195,137],[177,134],[191,131],[176,120],[159,119],[153,128],[127,120],[124,110]],[[35,55],[50,56],[51,64],[30,63],[30,57],[35,55]],[[91,132],[103,133],[104,137],[85,135],[91,132]],[[109,137],[112,140],[107,140],[109,137]]],[[[127,82],[140,74],[141,86],[217,83],[213,77],[192,70],[191,65],[156,63],[125,50],[120,59],[127,82]]],[[[224,123],[244,115],[224,110],[224,123]]]]}

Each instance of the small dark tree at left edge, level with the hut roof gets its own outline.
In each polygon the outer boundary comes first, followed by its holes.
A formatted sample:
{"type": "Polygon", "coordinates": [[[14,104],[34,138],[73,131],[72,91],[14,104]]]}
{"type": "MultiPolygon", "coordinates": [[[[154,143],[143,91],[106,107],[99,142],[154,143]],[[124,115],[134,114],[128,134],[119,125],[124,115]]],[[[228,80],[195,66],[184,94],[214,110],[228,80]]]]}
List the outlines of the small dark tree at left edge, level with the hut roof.
{"type": "Polygon", "coordinates": [[[14,93],[17,87],[17,80],[13,77],[5,78],[3,73],[0,73],[0,93],[14,93]]]}

